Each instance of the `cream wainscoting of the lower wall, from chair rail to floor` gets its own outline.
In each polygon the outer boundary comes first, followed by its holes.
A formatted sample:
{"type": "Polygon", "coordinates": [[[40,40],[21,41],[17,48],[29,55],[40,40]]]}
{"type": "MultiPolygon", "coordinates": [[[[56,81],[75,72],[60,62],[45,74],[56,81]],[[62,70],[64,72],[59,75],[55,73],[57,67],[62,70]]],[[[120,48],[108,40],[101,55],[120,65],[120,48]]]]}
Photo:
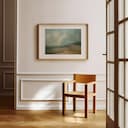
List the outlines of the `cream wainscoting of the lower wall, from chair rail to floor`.
{"type": "MultiPolygon", "coordinates": [[[[105,109],[105,75],[97,75],[97,78],[97,109],[105,109]],[[101,90],[103,91],[100,92],[101,90]]],[[[62,82],[71,79],[72,74],[63,73],[17,75],[16,109],[61,109],[62,82]],[[53,97],[48,97],[50,94],[53,94],[53,97]]],[[[91,102],[90,99],[89,101],[91,102]]],[[[78,109],[82,109],[82,102],[81,99],[78,100],[78,109]]],[[[71,100],[67,100],[67,109],[72,108],[71,103],[71,100]]]]}

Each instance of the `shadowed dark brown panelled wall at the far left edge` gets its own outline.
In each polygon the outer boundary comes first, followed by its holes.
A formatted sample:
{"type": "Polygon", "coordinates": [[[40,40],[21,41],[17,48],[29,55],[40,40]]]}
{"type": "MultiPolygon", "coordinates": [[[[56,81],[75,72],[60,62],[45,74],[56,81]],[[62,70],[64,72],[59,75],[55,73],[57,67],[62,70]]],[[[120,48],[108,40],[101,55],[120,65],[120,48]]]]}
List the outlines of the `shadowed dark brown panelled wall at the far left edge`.
{"type": "Polygon", "coordinates": [[[0,95],[13,96],[16,0],[0,0],[0,28],[0,95]]]}

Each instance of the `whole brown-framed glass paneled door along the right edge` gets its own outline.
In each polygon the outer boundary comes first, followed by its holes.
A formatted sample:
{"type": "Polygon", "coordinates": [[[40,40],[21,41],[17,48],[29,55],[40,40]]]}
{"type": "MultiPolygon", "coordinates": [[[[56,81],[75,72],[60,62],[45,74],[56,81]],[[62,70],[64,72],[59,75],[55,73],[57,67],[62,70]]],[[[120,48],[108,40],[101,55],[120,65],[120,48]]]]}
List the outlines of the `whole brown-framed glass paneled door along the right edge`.
{"type": "Polygon", "coordinates": [[[128,128],[128,0],[106,1],[107,128],[128,128]]]}

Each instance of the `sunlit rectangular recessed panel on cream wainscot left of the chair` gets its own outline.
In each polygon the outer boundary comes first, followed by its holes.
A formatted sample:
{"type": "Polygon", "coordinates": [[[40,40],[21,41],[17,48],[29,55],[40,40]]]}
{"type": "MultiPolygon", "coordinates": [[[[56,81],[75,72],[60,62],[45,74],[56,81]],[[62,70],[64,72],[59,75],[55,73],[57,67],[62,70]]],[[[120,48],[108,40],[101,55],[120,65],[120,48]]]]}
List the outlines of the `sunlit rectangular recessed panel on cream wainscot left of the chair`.
{"type": "Polygon", "coordinates": [[[20,83],[21,101],[62,100],[62,81],[23,79],[20,83]]]}

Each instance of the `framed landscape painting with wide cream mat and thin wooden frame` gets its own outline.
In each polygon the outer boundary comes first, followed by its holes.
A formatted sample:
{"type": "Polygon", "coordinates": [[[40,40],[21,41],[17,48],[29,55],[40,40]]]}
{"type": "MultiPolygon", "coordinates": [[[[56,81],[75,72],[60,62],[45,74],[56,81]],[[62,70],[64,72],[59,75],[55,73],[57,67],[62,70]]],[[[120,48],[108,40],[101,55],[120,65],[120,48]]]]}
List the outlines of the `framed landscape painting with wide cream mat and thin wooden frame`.
{"type": "Polygon", "coordinates": [[[87,24],[38,24],[38,59],[85,60],[87,24]]]}

